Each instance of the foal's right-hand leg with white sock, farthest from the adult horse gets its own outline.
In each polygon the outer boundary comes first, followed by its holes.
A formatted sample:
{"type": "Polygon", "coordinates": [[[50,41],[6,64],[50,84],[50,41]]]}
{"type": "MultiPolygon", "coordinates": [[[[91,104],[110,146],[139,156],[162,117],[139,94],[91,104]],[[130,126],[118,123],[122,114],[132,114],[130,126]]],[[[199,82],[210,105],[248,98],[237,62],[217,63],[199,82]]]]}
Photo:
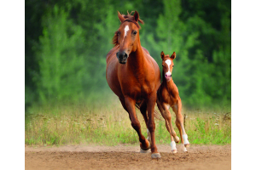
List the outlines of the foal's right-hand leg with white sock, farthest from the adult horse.
{"type": "Polygon", "coordinates": [[[177,101],[177,105],[172,106],[172,111],[174,111],[176,114],[175,124],[180,133],[181,141],[183,144],[183,151],[187,151],[186,147],[189,147],[189,140],[188,140],[188,135],[183,126],[183,115],[181,114],[181,109],[182,109],[181,101],[177,101]]]}

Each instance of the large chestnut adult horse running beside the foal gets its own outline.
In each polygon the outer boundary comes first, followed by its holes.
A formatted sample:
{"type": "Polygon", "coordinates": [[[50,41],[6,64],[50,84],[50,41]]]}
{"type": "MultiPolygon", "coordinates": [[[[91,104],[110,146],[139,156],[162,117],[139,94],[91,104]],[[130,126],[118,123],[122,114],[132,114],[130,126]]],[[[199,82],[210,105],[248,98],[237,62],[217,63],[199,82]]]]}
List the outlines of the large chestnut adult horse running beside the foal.
{"type": "Polygon", "coordinates": [[[143,24],[143,20],[139,19],[137,11],[133,15],[118,12],[118,17],[121,24],[113,37],[115,46],[106,59],[108,85],[129,113],[131,126],[139,137],[141,152],[151,148],[151,157],[158,158],[160,153],[154,139],[154,105],[156,91],[160,86],[160,68],[148,50],[141,46],[138,22],[143,24]],[[140,104],[140,111],[151,135],[150,143],[141,132],[135,112],[136,104],[140,104]]]}

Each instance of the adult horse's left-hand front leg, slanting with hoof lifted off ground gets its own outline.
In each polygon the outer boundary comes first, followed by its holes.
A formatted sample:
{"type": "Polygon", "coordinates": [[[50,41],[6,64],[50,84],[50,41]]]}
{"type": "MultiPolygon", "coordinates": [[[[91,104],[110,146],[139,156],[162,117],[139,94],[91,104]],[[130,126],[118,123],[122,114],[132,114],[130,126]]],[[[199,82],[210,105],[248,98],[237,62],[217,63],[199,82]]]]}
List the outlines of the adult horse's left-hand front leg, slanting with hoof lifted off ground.
{"type": "Polygon", "coordinates": [[[141,152],[144,153],[143,151],[147,151],[150,149],[150,144],[149,144],[148,140],[145,139],[145,137],[143,136],[140,122],[137,120],[137,115],[135,112],[135,103],[136,102],[134,99],[125,97],[125,106],[129,113],[129,117],[131,120],[131,126],[136,130],[136,132],[139,136],[141,152]]]}

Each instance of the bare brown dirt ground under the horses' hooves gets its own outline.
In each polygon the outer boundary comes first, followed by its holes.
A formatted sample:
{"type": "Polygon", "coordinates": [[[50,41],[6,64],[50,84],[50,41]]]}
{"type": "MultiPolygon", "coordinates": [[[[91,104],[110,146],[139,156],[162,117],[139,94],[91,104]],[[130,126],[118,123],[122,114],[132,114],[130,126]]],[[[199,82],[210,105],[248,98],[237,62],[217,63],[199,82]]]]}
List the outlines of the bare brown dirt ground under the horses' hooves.
{"type": "Polygon", "coordinates": [[[177,144],[177,154],[170,145],[157,147],[160,159],[139,153],[139,146],[26,146],[25,169],[231,169],[231,145],[191,145],[184,153],[177,144]]]}

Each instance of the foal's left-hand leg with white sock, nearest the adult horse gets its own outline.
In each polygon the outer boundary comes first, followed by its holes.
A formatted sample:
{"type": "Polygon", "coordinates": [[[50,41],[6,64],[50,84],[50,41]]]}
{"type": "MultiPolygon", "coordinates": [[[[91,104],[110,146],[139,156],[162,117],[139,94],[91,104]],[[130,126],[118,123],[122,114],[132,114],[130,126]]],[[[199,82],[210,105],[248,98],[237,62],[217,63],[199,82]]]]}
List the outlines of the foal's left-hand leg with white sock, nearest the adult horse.
{"type": "Polygon", "coordinates": [[[159,100],[157,100],[157,106],[160,110],[161,115],[164,117],[164,119],[166,121],[166,129],[170,133],[170,136],[171,136],[172,153],[177,153],[177,148],[176,148],[176,144],[173,140],[173,136],[176,137],[177,142],[179,141],[179,139],[178,139],[177,134],[175,133],[173,127],[172,127],[171,113],[167,110],[165,105],[161,105],[159,100]]]}

